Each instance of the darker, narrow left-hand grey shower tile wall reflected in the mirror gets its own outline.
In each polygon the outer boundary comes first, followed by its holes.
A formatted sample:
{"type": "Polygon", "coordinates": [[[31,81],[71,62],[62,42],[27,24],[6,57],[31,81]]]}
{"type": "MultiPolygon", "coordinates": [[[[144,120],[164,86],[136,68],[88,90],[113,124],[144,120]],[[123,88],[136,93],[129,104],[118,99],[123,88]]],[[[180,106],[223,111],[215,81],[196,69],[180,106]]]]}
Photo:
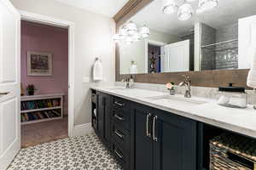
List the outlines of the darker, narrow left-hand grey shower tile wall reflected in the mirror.
{"type": "MultiPolygon", "coordinates": [[[[206,24],[201,24],[201,45],[209,45],[216,42],[216,30],[206,24]]],[[[202,48],[201,70],[215,70],[215,51],[214,46],[202,48]]]]}

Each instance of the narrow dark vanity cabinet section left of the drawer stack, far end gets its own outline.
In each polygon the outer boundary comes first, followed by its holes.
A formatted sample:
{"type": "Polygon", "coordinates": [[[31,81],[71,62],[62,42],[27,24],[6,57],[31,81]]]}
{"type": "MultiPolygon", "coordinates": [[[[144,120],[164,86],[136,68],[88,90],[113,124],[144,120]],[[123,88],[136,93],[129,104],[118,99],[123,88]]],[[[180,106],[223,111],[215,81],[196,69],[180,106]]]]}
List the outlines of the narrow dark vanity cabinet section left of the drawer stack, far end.
{"type": "Polygon", "coordinates": [[[110,145],[110,117],[111,117],[111,96],[97,92],[97,129],[96,133],[103,142],[110,145]]]}

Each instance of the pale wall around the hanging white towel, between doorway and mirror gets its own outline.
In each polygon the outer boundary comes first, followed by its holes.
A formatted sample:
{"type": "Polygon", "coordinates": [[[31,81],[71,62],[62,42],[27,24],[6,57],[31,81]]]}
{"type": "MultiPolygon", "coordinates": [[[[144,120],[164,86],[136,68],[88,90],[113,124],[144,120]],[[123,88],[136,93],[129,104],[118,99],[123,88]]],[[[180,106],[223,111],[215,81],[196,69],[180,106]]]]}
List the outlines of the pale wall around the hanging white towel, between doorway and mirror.
{"type": "Polygon", "coordinates": [[[53,0],[10,1],[20,10],[75,23],[75,125],[90,122],[90,85],[92,83],[83,84],[82,77],[91,77],[94,60],[101,56],[105,81],[96,84],[113,84],[114,46],[111,41],[115,32],[113,19],[53,0]]]}

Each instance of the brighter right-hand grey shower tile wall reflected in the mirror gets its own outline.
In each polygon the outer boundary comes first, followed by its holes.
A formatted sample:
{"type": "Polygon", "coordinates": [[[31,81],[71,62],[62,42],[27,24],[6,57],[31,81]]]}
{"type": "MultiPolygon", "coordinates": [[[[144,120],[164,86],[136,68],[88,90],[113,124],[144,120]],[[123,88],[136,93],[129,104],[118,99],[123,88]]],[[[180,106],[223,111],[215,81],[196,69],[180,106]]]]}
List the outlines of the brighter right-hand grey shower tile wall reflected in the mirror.
{"type": "MultiPolygon", "coordinates": [[[[238,23],[222,26],[216,31],[216,41],[224,42],[238,39],[238,23]]],[[[238,68],[238,41],[216,46],[216,69],[238,68]]]]}

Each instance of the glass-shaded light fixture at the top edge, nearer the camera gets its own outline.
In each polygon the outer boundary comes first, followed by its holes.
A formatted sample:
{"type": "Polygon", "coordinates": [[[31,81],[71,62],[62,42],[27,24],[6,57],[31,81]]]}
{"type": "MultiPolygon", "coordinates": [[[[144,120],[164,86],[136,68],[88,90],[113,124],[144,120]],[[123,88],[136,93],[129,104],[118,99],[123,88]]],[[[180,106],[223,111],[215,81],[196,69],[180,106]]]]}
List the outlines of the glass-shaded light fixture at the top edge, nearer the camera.
{"type": "MultiPolygon", "coordinates": [[[[163,0],[163,13],[173,14],[177,12],[178,20],[189,20],[194,14],[191,2],[195,0],[184,0],[183,3],[178,6],[177,0],[163,0]]],[[[211,8],[218,6],[218,0],[199,0],[196,13],[203,13],[211,8]]]]}

